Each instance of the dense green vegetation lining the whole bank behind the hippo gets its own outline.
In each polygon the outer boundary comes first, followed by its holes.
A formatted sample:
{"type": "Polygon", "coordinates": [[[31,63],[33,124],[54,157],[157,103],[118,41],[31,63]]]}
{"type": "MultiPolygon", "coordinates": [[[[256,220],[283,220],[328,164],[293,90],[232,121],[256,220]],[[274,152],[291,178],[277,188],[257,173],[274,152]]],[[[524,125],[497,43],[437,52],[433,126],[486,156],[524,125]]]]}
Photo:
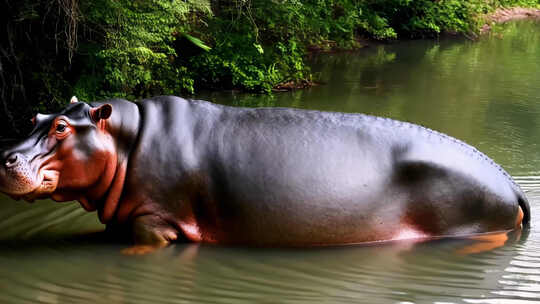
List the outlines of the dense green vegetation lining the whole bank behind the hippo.
{"type": "Polygon", "coordinates": [[[309,50],[366,39],[474,37],[499,6],[538,0],[4,0],[0,134],[82,100],[270,92],[311,80],[309,50]]]}

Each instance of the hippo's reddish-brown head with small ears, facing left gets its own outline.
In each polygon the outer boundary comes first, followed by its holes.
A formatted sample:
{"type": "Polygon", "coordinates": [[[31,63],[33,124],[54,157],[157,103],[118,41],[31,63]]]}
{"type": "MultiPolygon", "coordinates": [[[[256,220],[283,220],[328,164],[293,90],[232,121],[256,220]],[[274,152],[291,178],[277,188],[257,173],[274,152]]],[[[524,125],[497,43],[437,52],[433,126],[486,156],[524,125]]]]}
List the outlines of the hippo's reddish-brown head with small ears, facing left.
{"type": "Polygon", "coordinates": [[[0,154],[0,191],[30,202],[79,200],[95,210],[118,163],[107,122],[112,111],[111,104],[72,99],[60,113],[36,115],[29,136],[0,154]]]}

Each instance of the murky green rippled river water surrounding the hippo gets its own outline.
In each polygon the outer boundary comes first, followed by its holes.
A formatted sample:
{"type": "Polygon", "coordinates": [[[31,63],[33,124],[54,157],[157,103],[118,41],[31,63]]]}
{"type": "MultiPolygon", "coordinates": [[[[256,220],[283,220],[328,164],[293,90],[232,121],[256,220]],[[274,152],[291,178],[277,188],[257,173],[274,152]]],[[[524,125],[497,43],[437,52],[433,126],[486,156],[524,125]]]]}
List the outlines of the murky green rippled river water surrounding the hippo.
{"type": "Polygon", "coordinates": [[[78,204],[0,202],[0,303],[540,302],[540,23],[481,41],[411,41],[321,55],[309,90],[203,96],[240,106],[363,112],[475,145],[527,192],[532,227],[504,247],[470,241],[326,249],[176,244],[124,256],[78,204]]]}

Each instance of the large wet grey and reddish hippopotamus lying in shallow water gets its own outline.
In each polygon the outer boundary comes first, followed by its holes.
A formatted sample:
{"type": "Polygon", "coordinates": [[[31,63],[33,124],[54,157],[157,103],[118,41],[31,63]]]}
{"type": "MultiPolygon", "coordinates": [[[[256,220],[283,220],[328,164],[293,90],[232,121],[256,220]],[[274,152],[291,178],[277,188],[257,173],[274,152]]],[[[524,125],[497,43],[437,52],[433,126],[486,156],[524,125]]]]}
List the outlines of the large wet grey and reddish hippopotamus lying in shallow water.
{"type": "Polygon", "coordinates": [[[77,200],[136,244],[331,246],[528,225],[518,185],[470,145],[364,114],[160,96],[38,114],[0,191],[77,200]]]}

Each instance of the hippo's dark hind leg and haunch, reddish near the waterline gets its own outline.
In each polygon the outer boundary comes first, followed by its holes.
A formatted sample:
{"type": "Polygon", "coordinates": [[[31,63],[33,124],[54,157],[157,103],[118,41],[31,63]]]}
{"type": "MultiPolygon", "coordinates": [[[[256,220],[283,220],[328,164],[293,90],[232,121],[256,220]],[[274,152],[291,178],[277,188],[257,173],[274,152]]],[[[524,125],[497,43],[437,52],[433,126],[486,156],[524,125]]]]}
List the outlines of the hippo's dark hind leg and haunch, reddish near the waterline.
{"type": "Polygon", "coordinates": [[[392,182],[406,193],[403,223],[429,236],[510,230],[519,217],[517,197],[504,191],[509,188],[498,193],[471,175],[434,163],[399,162],[392,182]]]}

